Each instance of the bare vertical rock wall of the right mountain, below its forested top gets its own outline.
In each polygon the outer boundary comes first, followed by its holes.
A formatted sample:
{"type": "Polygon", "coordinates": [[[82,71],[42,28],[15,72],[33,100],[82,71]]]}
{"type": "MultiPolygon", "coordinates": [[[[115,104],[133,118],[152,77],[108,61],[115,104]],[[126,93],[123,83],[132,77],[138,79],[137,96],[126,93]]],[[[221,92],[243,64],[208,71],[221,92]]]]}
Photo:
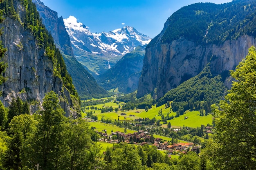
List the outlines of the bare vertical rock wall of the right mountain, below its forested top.
{"type": "Polygon", "coordinates": [[[248,35],[220,45],[197,45],[184,38],[171,44],[156,44],[146,49],[137,96],[157,88],[157,98],[163,97],[172,88],[198,75],[208,62],[214,75],[228,74],[255,44],[254,37],[248,35]]]}

